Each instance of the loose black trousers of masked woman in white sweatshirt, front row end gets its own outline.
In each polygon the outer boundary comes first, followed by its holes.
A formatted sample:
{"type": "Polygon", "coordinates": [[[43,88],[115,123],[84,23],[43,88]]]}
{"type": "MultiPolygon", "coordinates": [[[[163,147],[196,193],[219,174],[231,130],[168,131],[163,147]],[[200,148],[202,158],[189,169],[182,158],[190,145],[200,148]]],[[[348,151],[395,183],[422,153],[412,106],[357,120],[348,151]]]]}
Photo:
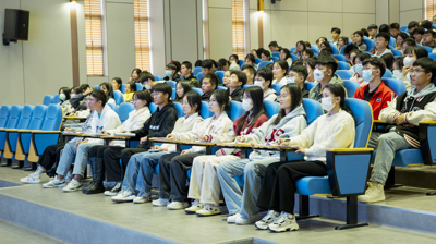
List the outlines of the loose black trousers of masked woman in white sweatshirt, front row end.
{"type": "Polygon", "coordinates": [[[257,207],[293,213],[296,180],[305,176],[324,176],[326,164],[322,161],[276,162],[266,168],[257,207]]]}

